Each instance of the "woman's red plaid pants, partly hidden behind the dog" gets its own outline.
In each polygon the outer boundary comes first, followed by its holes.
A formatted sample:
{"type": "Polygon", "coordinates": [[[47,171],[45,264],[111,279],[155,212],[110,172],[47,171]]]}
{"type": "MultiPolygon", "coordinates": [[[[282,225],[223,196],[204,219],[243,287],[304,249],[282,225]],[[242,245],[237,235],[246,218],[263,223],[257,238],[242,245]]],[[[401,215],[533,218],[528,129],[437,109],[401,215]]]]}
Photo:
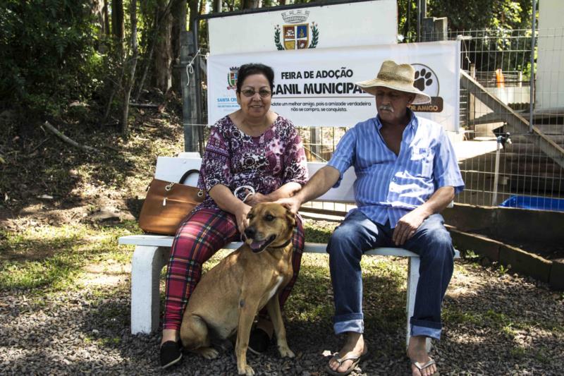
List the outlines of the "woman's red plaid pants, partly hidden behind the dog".
{"type": "MultiPolygon", "coordinates": [[[[299,216],[296,219],[297,226],[292,237],[294,275],[279,296],[281,307],[298,278],[304,249],[302,222],[299,216]]],[[[231,241],[240,241],[235,216],[221,209],[196,210],[180,224],[172,243],[171,260],[166,271],[163,329],[180,329],[188,299],[202,277],[203,263],[231,241]]],[[[266,310],[263,311],[261,314],[266,313],[266,310]]]]}

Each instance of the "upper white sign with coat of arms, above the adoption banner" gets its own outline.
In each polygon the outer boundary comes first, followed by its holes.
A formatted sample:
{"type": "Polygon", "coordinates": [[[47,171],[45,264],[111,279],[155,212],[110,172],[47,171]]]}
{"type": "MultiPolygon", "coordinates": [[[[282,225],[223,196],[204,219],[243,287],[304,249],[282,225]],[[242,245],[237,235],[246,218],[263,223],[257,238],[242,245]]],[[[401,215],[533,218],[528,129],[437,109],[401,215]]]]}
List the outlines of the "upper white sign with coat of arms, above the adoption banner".
{"type": "Polygon", "coordinates": [[[396,0],[308,6],[210,18],[209,53],[366,46],[397,42],[396,0]]]}

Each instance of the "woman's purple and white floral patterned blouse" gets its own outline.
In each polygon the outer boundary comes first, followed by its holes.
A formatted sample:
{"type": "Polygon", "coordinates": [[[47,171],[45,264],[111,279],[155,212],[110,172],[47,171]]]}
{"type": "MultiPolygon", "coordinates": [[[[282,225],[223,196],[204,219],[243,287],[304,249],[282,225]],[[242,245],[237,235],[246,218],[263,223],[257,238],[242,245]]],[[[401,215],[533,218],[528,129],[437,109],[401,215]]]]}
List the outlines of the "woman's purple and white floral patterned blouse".
{"type": "MultiPolygon", "coordinates": [[[[252,137],[240,131],[229,116],[219,119],[209,135],[198,187],[209,192],[223,184],[231,192],[240,186],[252,186],[267,195],[290,181],[307,182],[304,147],[293,123],[283,116],[262,135],[252,137]]],[[[245,190],[238,191],[245,198],[245,190]]],[[[207,195],[197,208],[218,207],[207,195]]]]}

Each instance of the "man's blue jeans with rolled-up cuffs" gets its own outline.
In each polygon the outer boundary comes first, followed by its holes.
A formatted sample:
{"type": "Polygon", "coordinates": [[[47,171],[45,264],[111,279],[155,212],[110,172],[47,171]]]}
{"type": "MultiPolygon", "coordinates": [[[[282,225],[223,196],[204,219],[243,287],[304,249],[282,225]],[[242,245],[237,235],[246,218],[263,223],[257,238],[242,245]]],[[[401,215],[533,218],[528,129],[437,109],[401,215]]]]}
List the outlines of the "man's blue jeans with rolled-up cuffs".
{"type": "MultiPolygon", "coordinates": [[[[364,332],[360,258],[376,247],[393,247],[393,229],[372,222],[355,210],[335,229],[327,245],[335,296],[336,334],[364,332]]],[[[410,317],[412,336],[441,338],[441,303],[453,275],[454,248],[441,214],[424,220],[403,248],[420,257],[415,310],[410,317]]]]}

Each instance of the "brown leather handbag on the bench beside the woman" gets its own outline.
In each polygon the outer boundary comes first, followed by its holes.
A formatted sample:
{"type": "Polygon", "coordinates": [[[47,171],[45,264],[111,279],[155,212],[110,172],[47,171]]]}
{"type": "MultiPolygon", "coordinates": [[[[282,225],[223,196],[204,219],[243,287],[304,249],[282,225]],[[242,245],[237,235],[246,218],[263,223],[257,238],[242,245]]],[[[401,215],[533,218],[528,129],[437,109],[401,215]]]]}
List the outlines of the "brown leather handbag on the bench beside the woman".
{"type": "Polygon", "coordinates": [[[147,198],[139,214],[139,226],[145,232],[155,234],[176,234],[180,222],[205,198],[205,191],[183,185],[191,174],[198,170],[186,171],[178,183],[154,178],[147,188],[147,198]]]}

